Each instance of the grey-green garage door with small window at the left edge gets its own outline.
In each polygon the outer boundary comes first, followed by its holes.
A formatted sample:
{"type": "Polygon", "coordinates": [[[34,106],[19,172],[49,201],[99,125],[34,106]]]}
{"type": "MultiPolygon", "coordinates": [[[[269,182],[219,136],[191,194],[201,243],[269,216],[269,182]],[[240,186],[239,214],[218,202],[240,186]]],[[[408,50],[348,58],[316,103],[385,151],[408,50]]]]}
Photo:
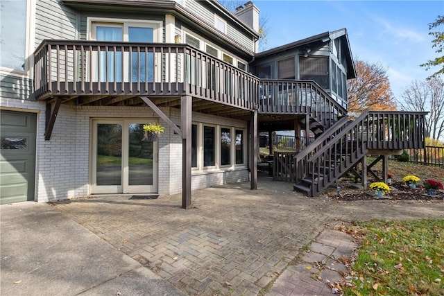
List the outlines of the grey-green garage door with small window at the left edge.
{"type": "Polygon", "coordinates": [[[34,200],[34,113],[0,110],[0,204],[34,200]]]}

